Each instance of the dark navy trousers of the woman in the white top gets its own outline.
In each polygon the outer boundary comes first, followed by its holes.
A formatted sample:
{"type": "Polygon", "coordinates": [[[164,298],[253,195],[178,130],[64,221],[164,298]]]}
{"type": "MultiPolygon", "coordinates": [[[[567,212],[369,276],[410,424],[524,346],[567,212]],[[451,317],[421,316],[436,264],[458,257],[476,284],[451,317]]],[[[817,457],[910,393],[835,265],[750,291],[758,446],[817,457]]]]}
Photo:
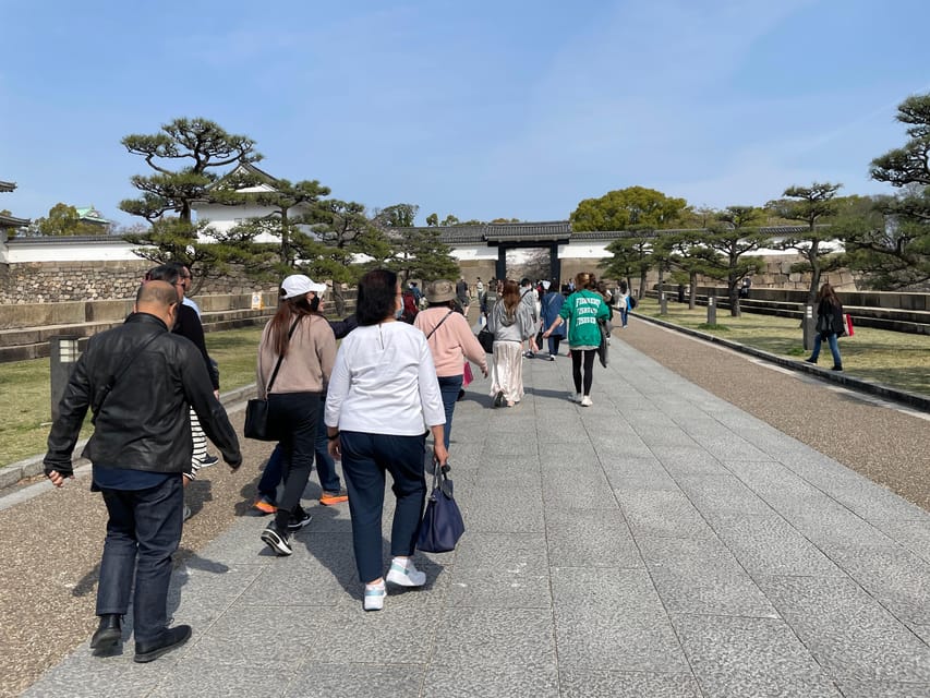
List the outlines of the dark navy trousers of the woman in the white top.
{"type": "Polygon", "coordinates": [[[341,432],[342,473],[349,490],[352,546],[359,578],[371,582],[384,575],[382,510],[385,471],[394,480],[397,497],[390,529],[390,554],[409,556],[416,547],[420,519],[426,501],[423,471],[426,436],[394,436],[341,432]]]}

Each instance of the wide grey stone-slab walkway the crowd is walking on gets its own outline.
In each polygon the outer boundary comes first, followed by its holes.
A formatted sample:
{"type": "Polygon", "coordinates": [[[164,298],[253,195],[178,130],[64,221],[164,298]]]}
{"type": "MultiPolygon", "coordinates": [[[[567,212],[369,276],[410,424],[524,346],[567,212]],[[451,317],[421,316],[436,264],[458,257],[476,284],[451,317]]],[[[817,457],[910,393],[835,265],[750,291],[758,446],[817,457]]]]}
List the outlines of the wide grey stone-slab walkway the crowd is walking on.
{"type": "Polygon", "coordinates": [[[565,357],[524,361],[512,409],[471,386],[468,530],[418,553],[425,588],[362,611],[345,505],[306,502],[287,558],[243,516],[174,576],[185,647],[134,664],[125,630],[24,695],[930,697],[930,515],[620,339],[612,358],[590,408],[565,357]]]}

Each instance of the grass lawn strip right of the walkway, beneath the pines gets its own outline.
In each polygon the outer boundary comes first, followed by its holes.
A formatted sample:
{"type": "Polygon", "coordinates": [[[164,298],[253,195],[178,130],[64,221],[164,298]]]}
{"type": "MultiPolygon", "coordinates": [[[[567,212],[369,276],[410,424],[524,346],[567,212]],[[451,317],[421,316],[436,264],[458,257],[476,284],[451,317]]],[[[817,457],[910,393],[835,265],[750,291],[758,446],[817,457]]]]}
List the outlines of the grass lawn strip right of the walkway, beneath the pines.
{"type": "MultiPolygon", "coordinates": [[[[729,310],[717,309],[716,327],[706,327],[708,309],[669,302],[668,313],[659,314],[659,301],[645,298],[637,305],[637,313],[665,322],[699,329],[709,335],[724,337],[788,359],[804,361],[809,354],[804,349],[800,323],[789,317],[744,313],[733,317],[729,310]]],[[[872,327],[857,327],[853,337],[841,337],[840,353],[843,369],[849,375],[881,383],[901,390],[930,395],[930,337],[909,335],[872,327]]],[[[820,364],[830,368],[833,359],[824,342],[820,364]]]]}

